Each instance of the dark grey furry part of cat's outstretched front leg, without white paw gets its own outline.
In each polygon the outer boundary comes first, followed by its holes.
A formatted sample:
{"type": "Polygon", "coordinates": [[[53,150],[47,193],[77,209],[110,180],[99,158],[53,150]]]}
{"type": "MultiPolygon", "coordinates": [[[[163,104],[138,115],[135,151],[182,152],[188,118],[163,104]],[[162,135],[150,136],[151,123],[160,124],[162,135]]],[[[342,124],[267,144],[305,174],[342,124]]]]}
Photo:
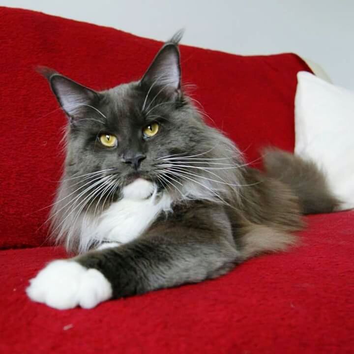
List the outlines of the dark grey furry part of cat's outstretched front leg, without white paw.
{"type": "Polygon", "coordinates": [[[99,270],[111,284],[113,298],[215,278],[241,260],[226,237],[184,227],[156,231],[75,260],[99,270]]]}

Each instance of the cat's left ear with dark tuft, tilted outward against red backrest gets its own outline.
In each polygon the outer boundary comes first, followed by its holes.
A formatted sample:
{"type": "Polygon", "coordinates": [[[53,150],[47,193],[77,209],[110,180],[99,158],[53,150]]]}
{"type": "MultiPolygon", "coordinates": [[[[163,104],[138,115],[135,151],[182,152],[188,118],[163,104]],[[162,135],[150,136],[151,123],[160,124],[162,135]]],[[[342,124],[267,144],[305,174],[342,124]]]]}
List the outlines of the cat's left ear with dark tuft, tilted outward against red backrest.
{"type": "Polygon", "coordinates": [[[53,69],[40,66],[37,71],[48,80],[70,121],[79,118],[87,107],[93,106],[99,99],[96,91],[78,84],[53,69]]]}

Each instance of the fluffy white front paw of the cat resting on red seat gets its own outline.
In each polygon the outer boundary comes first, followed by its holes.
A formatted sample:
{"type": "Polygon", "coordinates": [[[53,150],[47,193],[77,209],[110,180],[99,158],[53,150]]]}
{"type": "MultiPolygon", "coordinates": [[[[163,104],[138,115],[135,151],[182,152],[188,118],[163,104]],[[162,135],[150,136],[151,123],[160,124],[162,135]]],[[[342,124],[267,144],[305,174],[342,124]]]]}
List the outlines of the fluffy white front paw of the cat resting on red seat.
{"type": "Polygon", "coordinates": [[[111,284],[100,271],[75,261],[51,262],[29,282],[30,299],[59,310],[78,305],[92,308],[112,297],[111,284]]]}

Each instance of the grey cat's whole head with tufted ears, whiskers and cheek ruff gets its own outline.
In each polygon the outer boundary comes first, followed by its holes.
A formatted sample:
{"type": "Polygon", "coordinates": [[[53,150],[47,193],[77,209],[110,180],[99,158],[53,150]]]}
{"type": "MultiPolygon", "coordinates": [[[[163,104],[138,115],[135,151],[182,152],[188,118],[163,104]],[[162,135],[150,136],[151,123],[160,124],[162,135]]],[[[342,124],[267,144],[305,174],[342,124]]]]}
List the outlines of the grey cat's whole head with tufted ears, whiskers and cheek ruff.
{"type": "Polygon", "coordinates": [[[68,117],[59,219],[66,210],[104,209],[138,178],[174,199],[215,198],[230,179],[236,183],[237,149],[204,122],[181,86],[180,37],[163,45],[140,81],[105,91],[40,70],[68,117]]]}

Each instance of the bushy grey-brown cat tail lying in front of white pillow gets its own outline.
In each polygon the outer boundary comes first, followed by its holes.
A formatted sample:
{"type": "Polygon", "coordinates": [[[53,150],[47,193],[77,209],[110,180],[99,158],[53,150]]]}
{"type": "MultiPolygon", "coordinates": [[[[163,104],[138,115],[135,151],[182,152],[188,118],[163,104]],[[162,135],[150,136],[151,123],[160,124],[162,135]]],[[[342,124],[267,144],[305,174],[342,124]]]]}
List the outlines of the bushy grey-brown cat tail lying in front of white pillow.
{"type": "Polygon", "coordinates": [[[326,177],[313,161],[277,149],[263,150],[266,175],[291,187],[304,214],[327,213],[340,201],[331,192],[326,177]]]}

